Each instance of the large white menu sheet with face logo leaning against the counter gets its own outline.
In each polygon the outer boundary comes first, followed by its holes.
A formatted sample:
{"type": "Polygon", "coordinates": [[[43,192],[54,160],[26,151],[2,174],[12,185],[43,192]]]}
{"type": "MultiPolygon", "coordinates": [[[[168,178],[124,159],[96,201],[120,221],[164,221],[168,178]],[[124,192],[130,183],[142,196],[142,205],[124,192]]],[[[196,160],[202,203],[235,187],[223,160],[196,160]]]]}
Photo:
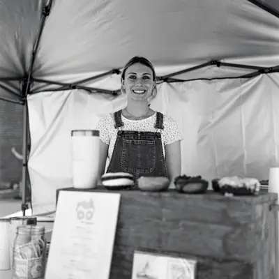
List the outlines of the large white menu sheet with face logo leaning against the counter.
{"type": "Polygon", "coordinates": [[[120,194],[61,191],[45,279],[108,279],[120,194]]]}

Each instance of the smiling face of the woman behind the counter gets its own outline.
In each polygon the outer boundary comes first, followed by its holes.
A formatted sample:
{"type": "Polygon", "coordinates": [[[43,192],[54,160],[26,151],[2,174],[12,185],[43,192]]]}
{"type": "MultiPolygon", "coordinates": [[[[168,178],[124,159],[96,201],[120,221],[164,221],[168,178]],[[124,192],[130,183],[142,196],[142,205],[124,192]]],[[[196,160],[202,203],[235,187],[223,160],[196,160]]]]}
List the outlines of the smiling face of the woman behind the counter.
{"type": "Polygon", "coordinates": [[[151,68],[141,63],[133,64],[126,70],[123,86],[128,99],[147,100],[155,86],[151,68]]]}

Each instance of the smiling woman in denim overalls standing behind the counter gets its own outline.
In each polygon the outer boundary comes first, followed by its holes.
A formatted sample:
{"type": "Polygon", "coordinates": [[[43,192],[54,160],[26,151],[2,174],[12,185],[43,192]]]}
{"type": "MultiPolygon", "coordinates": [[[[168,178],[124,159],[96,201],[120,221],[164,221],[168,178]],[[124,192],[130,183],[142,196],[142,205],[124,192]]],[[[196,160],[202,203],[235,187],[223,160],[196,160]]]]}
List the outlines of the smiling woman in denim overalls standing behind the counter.
{"type": "Polygon", "coordinates": [[[121,73],[121,92],[127,94],[125,109],[100,119],[100,175],[128,172],[140,176],[181,174],[182,137],[175,121],[149,107],[156,93],[156,73],[151,62],[135,56],[121,73]]]}

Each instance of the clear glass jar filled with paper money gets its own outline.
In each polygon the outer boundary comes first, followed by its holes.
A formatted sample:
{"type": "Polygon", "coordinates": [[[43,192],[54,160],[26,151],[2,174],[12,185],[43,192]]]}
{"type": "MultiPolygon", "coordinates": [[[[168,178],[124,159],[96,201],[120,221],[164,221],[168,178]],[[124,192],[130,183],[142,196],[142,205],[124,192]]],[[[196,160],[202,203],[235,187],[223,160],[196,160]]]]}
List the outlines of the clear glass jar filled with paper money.
{"type": "Polygon", "coordinates": [[[13,248],[12,279],[43,279],[45,276],[45,227],[17,227],[13,248]]]}

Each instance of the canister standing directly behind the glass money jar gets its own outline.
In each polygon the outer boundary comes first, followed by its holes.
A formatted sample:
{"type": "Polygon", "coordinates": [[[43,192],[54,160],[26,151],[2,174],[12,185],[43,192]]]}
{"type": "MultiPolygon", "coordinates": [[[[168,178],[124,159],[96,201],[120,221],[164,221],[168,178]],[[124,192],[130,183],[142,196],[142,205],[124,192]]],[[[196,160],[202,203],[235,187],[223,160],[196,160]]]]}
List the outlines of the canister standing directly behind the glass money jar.
{"type": "Polygon", "coordinates": [[[22,225],[37,225],[37,218],[31,216],[10,218],[9,236],[10,236],[10,268],[13,267],[13,245],[17,234],[17,227],[22,225]]]}

